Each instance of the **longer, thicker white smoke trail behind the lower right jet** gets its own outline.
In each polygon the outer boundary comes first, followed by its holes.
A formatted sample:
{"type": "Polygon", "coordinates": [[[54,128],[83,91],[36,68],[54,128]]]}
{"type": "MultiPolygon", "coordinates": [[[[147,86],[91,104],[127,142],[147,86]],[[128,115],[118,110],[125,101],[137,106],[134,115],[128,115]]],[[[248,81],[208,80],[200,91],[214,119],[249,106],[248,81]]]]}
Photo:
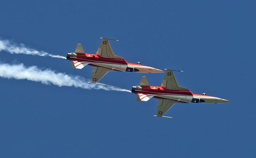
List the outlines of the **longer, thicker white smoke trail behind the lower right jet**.
{"type": "Polygon", "coordinates": [[[83,77],[69,76],[65,73],[56,73],[50,69],[39,69],[37,66],[26,67],[23,63],[19,65],[9,65],[0,63],[0,77],[15,78],[17,80],[27,79],[29,81],[41,82],[45,85],[56,86],[74,86],[83,89],[103,89],[103,90],[117,90],[123,92],[131,92],[130,90],[117,88],[114,86],[103,86],[97,84],[89,84],[83,77]]]}

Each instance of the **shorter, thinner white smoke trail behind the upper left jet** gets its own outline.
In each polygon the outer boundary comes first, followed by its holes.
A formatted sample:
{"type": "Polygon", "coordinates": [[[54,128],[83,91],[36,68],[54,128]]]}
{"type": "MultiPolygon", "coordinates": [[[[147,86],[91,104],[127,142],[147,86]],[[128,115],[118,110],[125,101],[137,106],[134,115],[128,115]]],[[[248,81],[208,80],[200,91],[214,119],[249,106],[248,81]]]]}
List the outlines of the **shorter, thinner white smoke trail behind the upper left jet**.
{"type": "Polygon", "coordinates": [[[66,57],[63,57],[61,55],[52,55],[52,54],[46,53],[45,51],[37,51],[35,49],[28,48],[22,43],[20,43],[19,45],[16,43],[12,43],[8,39],[0,40],[0,51],[7,51],[11,54],[30,54],[30,55],[39,55],[44,57],[50,56],[53,58],[66,59],[66,57]]]}

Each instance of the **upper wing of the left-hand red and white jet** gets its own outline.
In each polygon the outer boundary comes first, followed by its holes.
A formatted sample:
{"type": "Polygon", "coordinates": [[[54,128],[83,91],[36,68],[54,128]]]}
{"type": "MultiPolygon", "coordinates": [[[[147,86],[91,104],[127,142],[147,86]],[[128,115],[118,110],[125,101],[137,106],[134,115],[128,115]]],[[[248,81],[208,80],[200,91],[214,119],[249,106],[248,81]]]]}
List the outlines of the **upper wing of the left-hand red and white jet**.
{"type": "Polygon", "coordinates": [[[96,55],[99,55],[103,58],[124,59],[124,58],[118,57],[117,55],[114,54],[114,52],[110,46],[109,40],[118,41],[118,40],[114,40],[114,39],[102,38],[101,44],[99,45],[96,55]]]}

